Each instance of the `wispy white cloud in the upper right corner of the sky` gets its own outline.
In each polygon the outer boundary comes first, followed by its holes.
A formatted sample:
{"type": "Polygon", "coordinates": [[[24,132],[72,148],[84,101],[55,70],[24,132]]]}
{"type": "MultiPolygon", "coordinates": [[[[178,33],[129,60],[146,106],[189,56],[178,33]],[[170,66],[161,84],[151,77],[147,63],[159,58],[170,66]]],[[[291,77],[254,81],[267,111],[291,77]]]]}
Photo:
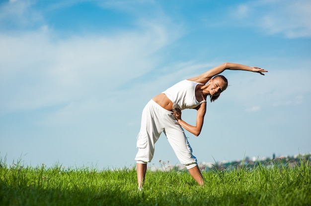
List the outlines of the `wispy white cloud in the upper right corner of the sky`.
{"type": "Polygon", "coordinates": [[[269,35],[311,37],[310,0],[258,0],[239,4],[233,16],[244,26],[258,27],[269,35]]]}

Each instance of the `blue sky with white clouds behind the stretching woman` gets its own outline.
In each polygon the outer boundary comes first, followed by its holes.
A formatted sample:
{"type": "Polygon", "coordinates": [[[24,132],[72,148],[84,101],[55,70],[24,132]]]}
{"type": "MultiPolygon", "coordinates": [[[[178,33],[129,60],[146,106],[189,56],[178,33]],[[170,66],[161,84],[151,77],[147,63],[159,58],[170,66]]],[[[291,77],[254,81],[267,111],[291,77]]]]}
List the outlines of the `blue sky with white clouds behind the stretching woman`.
{"type": "MultiPolygon", "coordinates": [[[[309,0],[0,2],[0,156],[11,164],[135,165],[141,112],[156,94],[224,62],[199,162],[311,152],[309,0]]],[[[182,118],[194,123],[195,110],[182,118]]],[[[178,160],[164,134],[152,163],[178,160]]]]}

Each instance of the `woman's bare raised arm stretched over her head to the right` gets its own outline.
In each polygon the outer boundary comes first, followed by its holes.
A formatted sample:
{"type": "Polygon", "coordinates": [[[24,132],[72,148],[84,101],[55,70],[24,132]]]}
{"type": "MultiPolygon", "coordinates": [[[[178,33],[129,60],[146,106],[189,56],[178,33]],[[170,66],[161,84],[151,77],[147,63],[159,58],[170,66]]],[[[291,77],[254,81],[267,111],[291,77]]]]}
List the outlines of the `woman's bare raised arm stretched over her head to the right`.
{"type": "Polygon", "coordinates": [[[264,70],[262,68],[255,67],[255,66],[246,66],[246,65],[243,65],[243,64],[228,63],[228,62],[226,62],[226,63],[223,63],[223,64],[221,64],[219,66],[216,66],[216,67],[208,70],[207,72],[204,72],[203,74],[201,74],[199,76],[190,78],[188,80],[194,81],[194,82],[199,82],[199,83],[202,83],[202,84],[206,84],[208,81],[210,81],[211,78],[213,78],[214,76],[222,73],[226,69],[258,72],[261,75],[264,75],[262,72],[268,72],[267,70],[264,70]]]}

